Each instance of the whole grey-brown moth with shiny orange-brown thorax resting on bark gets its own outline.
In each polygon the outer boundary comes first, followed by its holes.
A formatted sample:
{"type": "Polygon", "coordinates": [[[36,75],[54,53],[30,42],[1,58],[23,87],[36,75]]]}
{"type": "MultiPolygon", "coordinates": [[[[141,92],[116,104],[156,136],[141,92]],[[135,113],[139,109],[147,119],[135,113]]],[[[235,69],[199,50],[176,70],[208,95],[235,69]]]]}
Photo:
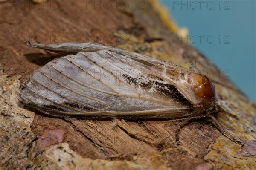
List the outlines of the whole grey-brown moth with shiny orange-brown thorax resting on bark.
{"type": "Polygon", "coordinates": [[[66,55],[36,70],[20,86],[20,101],[54,116],[87,118],[211,117],[221,107],[212,81],[196,72],[156,58],[96,43],[27,45],[66,55]]]}

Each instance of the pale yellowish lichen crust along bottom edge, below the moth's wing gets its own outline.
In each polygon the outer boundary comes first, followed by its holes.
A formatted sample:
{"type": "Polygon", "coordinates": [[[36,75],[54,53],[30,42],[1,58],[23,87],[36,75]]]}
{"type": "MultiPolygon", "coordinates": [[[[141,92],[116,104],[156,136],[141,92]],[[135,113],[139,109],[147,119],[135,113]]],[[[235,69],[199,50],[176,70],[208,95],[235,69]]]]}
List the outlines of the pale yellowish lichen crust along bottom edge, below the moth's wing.
{"type": "Polygon", "coordinates": [[[171,170],[167,167],[163,157],[156,153],[149,153],[136,156],[133,161],[108,161],[102,159],[83,158],[69,148],[67,143],[58,144],[49,147],[42,153],[44,157],[37,158],[35,161],[49,169],[126,169],[126,170],[147,170],[161,169],[171,170]],[[44,159],[42,159],[44,158],[44,159]],[[58,164],[54,164],[58,162],[58,164]]]}

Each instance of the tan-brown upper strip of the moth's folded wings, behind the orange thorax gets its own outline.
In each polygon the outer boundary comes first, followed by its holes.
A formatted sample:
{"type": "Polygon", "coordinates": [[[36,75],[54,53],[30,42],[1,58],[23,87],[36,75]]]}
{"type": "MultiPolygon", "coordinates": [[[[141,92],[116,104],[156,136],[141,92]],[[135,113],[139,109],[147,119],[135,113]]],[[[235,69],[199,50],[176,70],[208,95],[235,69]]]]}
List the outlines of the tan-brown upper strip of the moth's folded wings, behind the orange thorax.
{"type": "MultiPolygon", "coordinates": [[[[116,49],[115,49],[116,50],[116,49]]],[[[174,86],[173,90],[177,89],[182,95],[174,95],[176,98],[185,97],[187,102],[185,104],[197,104],[198,99],[195,96],[194,89],[188,83],[188,77],[190,73],[195,73],[191,69],[185,69],[175,64],[160,61],[156,58],[152,58],[146,55],[141,55],[135,52],[129,52],[122,49],[118,51],[107,51],[115,58],[125,61],[133,65],[137,69],[141,69],[142,72],[154,75],[157,78],[161,78],[166,81],[166,84],[174,86]]],[[[172,90],[172,91],[173,91],[172,90]]]]}

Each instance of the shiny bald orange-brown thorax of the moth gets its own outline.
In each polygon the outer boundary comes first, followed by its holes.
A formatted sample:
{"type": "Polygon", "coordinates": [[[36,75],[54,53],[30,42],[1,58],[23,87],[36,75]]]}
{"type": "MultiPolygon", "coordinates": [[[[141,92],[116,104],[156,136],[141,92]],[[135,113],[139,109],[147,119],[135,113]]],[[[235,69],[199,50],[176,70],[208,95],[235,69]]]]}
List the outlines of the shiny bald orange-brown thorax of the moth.
{"type": "Polygon", "coordinates": [[[189,74],[188,83],[205,108],[215,104],[215,87],[207,76],[198,73],[189,74]]]}

